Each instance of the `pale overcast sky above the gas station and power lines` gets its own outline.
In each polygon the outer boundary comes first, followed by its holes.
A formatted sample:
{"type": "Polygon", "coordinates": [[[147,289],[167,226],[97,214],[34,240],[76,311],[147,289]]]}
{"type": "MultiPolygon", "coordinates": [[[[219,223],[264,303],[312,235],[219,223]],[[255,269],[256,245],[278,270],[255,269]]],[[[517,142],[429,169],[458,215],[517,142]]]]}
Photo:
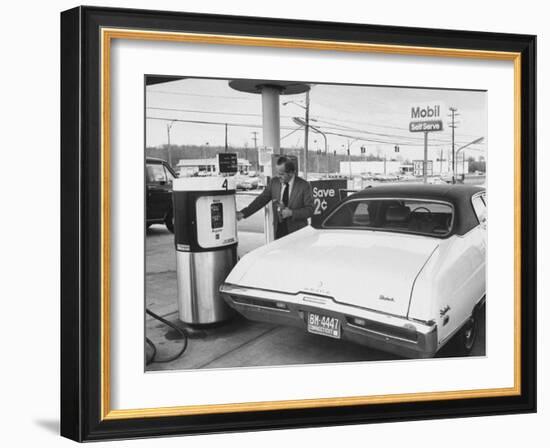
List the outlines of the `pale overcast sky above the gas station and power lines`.
{"type": "MultiPolygon", "coordinates": [[[[303,147],[304,131],[292,117],[304,116],[304,109],[283,105],[286,101],[304,103],[305,94],[281,96],[281,146],[303,147]],[[289,135],[290,134],[290,135],[289,135]]],[[[449,107],[458,109],[455,130],[456,148],[479,137],[481,144],[466,149],[467,156],[485,156],[487,145],[486,93],[461,90],[415,89],[379,86],[346,86],[314,84],[310,93],[311,124],[328,132],[329,151],[346,152],[348,141],[352,155],[360,154],[365,146],[368,153],[394,156],[394,145],[400,145],[400,155],[409,159],[423,157],[423,134],[409,132],[411,106],[442,103],[444,130],[429,135],[429,158],[440,150],[451,147],[449,107]],[[317,121],[315,121],[317,120],[317,121]],[[341,134],[341,135],[332,135],[341,134]]],[[[206,124],[174,122],[171,142],[174,145],[222,146],[224,123],[228,123],[228,142],[231,146],[254,147],[253,131],[258,131],[258,145],[262,145],[261,95],[238,92],[227,80],[184,79],[149,86],[146,89],[147,146],[160,146],[168,141],[167,124],[170,121],[152,119],[179,119],[209,122],[206,124]],[[215,124],[219,123],[219,124],[215,124]]],[[[310,133],[310,150],[324,149],[323,138],[310,133]]]]}

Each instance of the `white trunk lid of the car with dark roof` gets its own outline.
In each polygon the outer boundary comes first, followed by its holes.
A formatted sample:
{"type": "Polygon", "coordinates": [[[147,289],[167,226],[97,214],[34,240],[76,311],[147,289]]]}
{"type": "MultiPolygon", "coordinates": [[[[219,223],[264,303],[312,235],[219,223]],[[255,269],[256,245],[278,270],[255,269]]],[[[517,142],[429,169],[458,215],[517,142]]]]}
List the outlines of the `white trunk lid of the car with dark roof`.
{"type": "Polygon", "coordinates": [[[436,238],[369,230],[304,229],[262,248],[238,284],[406,316],[436,238]]]}

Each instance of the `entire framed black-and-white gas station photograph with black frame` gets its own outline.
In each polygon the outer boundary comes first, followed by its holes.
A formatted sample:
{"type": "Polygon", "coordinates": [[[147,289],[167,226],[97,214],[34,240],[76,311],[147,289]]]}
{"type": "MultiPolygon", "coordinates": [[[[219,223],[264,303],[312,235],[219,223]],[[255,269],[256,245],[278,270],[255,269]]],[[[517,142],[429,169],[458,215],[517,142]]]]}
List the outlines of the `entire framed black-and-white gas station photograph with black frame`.
{"type": "Polygon", "coordinates": [[[61,14],[61,433],[536,411],[536,37],[61,14]]]}

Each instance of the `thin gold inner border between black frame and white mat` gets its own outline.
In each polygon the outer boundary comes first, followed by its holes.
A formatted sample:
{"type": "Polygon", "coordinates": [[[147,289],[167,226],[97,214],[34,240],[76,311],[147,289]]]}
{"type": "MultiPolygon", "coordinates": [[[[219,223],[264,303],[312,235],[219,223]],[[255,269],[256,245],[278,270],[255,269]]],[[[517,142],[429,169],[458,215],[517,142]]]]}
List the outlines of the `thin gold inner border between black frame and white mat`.
{"type": "Polygon", "coordinates": [[[138,29],[101,29],[101,420],[173,417],[229,412],[254,412],[318,407],[353,406],[503,397],[521,394],[521,53],[458,48],[420,47],[307,39],[280,39],[238,35],[179,33],[138,29]],[[110,387],[110,50],[113,39],[185,42],[244,47],[296,48],[358,53],[504,60],[514,63],[514,386],[391,395],[314,398],[227,404],[111,409],[110,387]]]}

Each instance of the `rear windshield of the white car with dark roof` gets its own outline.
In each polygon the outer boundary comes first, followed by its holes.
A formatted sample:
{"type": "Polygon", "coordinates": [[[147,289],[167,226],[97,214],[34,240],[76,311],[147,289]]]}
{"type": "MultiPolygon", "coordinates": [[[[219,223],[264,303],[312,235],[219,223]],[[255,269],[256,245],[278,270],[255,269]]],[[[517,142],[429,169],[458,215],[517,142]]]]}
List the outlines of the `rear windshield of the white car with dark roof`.
{"type": "Polygon", "coordinates": [[[323,222],[324,228],[371,229],[443,237],[453,225],[453,207],[419,199],[351,199],[323,222]]]}

